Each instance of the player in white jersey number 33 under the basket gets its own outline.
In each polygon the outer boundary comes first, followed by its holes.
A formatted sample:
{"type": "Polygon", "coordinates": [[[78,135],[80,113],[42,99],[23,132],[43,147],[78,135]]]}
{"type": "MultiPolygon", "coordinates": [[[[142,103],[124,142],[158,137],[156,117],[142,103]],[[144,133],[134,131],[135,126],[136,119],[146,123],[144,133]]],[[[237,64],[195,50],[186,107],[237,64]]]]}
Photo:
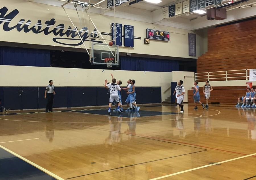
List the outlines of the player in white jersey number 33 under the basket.
{"type": "Polygon", "coordinates": [[[119,107],[120,107],[120,98],[118,96],[118,92],[117,91],[121,91],[120,86],[118,86],[117,84],[115,84],[116,79],[112,79],[112,83],[107,85],[108,80],[105,80],[105,84],[104,84],[104,88],[106,89],[110,89],[110,98],[109,98],[109,105],[108,105],[108,114],[111,114],[111,105],[112,103],[115,101],[116,103],[118,103],[118,108],[117,111],[119,113],[121,113],[119,107]]]}

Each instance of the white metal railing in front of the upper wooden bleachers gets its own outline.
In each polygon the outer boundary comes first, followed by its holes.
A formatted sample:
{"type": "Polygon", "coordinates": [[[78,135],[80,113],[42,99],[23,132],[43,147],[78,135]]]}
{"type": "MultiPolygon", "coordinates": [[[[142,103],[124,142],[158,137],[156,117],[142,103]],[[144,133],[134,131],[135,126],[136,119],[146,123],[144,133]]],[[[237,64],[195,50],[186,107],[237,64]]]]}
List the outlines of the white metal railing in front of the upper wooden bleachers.
{"type": "Polygon", "coordinates": [[[240,69],[231,71],[215,71],[208,73],[195,73],[195,81],[234,81],[249,80],[250,69],[240,69]]]}

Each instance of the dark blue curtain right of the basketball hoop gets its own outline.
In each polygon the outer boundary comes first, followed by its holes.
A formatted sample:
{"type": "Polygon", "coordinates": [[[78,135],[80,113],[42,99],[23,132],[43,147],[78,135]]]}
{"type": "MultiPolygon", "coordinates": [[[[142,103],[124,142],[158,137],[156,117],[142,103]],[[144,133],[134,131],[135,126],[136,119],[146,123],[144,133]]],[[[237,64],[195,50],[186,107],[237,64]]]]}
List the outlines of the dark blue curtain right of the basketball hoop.
{"type": "Polygon", "coordinates": [[[179,71],[179,62],[175,60],[162,60],[153,58],[138,58],[120,56],[121,70],[128,71],[179,71]]]}

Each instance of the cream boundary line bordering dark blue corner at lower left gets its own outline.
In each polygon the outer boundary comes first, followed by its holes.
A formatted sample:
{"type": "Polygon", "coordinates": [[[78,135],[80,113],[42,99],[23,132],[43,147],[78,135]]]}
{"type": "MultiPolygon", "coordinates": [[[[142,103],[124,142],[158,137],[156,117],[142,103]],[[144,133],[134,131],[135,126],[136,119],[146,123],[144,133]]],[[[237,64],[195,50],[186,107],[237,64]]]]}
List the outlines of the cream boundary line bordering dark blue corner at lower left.
{"type": "Polygon", "coordinates": [[[51,177],[54,177],[55,179],[58,179],[58,180],[65,180],[65,179],[59,177],[58,175],[56,175],[56,174],[54,174],[54,173],[52,173],[52,172],[46,170],[45,168],[39,166],[38,164],[36,164],[36,163],[34,163],[34,162],[32,162],[32,161],[30,161],[30,160],[28,160],[28,159],[26,159],[26,158],[20,156],[19,154],[15,153],[15,152],[13,152],[13,151],[11,151],[10,149],[7,149],[6,147],[3,147],[2,145],[0,145],[0,148],[4,149],[5,151],[7,151],[7,152],[10,153],[10,154],[13,154],[13,155],[16,156],[17,158],[20,158],[21,160],[23,160],[24,162],[26,162],[26,163],[28,163],[28,164],[34,166],[35,168],[37,168],[37,169],[43,171],[44,173],[50,175],[51,177]]]}

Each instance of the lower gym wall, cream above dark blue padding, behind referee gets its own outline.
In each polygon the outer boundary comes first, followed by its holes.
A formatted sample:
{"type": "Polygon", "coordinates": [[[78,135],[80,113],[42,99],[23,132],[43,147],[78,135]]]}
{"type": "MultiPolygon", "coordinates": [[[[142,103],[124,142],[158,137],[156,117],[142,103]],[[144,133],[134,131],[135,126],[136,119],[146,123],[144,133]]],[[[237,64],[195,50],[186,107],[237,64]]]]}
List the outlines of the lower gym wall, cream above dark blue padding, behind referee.
{"type": "MultiPolygon", "coordinates": [[[[184,80],[184,76],[191,76],[193,74],[193,72],[179,71],[173,71],[173,73],[120,70],[103,71],[100,69],[8,65],[0,65],[0,70],[5,77],[8,77],[0,79],[1,91],[3,91],[0,98],[4,99],[5,106],[13,106],[15,104],[15,107],[12,107],[12,109],[20,109],[24,102],[26,104],[22,109],[44,108],[44,90],[49,84],[49,80],[53,80],[53,84],[55,85],[55,107],[107,105],[107,90],[103,86],[105,79],[111,81],[110,73],[113,73],[117,80],[123,82],[121,86],[126,86],[128,79],[135,79],[137,103],[161,103],[171,94],[169,89],[170,82],[179,81],[180,79],[184,80]]],[[[185,79],[185,88],[193,84],[193,81],[185,79]]],[[[123,91],[123,103],[126,96],[126,93],[123,91]]],[[[186,101],[187,94],[185,94],[184,99],[184,102],[186,101]]]]}

